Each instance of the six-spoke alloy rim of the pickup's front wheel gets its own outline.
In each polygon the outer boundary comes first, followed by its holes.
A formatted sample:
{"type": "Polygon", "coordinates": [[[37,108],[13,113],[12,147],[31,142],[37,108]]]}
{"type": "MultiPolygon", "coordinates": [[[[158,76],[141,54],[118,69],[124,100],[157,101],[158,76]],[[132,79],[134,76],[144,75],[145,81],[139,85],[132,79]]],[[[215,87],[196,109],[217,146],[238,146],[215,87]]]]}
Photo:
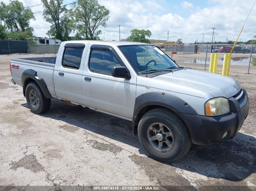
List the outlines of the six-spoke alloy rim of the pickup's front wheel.
{"type": "Polygon", "coordinates": [[[148,141],[158,151],[169,151],[174,144],[171,130],[163,123],[153,123],[148,127],[148,141]]]}

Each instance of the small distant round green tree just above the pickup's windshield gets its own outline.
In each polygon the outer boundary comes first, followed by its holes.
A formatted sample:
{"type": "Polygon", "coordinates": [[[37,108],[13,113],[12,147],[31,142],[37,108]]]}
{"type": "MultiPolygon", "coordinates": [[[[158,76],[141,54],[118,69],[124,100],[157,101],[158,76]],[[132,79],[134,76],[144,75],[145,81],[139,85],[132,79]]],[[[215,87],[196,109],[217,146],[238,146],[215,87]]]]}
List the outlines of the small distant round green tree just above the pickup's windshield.
{"type": "Polygon", "coordinates": [[[150,40],[148,40],[147,37],[151,36],[150,30],[138,30],[138,29],[133,29],[131,30],[131,36],[127,37],[127,39],[131,42],[141,42],[141,43],[149,43],[150,40]]]}

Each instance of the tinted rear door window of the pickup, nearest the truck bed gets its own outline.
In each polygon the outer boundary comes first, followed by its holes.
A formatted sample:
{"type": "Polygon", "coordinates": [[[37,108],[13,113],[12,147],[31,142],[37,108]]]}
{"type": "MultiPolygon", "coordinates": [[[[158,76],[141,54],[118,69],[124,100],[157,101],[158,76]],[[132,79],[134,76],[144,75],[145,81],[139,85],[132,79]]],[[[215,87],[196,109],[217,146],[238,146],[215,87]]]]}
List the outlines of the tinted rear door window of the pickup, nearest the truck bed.
{"type": "Polygon", "coordinates": [[[65,68],[79,69],[83,50],[83,48],[66,47],[63,55],[62,66],[65,68]]]}

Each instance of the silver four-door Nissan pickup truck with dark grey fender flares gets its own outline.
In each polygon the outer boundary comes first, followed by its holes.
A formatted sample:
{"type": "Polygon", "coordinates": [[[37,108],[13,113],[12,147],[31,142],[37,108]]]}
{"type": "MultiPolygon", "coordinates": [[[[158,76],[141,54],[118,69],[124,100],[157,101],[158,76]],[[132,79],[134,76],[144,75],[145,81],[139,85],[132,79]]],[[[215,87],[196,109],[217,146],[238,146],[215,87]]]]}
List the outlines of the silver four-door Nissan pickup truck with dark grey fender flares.
{"type": "Polygon", "coordinates": [[[160,161],[182,158],[191,143],[233,138],[249,111],[236,80],[179,67],[151,44],[67,41],[57,57],[11,59],[10,70],[32,112],[48,111],[57,98],[132,121],[160,161]]]}

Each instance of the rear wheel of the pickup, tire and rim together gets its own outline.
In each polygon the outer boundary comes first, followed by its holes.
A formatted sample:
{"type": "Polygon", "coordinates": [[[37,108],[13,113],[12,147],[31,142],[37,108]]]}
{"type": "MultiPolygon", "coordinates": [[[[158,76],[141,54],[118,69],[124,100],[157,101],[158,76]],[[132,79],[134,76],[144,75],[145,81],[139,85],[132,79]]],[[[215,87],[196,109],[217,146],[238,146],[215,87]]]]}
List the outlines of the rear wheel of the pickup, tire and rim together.
{"type": "Polygon", "coordinates": [[[50,109],[51,99],[45,98],[36,83],[31,82],[27,85],[25,95],[28,106],[33,113],[45,113],[50,109]]]}

